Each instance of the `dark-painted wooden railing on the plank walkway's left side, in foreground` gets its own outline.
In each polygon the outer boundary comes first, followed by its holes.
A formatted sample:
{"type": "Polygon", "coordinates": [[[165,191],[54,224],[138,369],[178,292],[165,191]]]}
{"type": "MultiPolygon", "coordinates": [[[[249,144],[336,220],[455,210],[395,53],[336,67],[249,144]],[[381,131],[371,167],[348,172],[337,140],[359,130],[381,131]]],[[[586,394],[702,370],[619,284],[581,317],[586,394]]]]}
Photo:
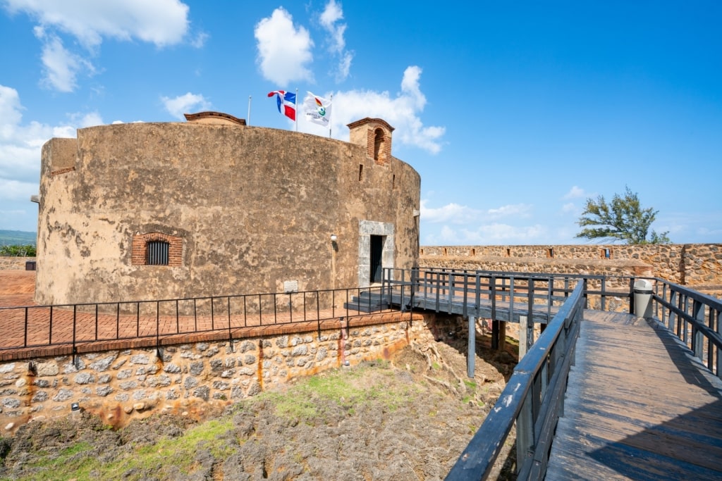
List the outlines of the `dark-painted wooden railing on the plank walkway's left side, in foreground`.
{"type": "Polygon", "coordinates": [[[517,364],[499,400],[447,480],[487,479],[514,423],[518,479],[543,479],[554,429],[562,415],[567,375],[585,304],[583,283],[578,283],[517,364]]]}

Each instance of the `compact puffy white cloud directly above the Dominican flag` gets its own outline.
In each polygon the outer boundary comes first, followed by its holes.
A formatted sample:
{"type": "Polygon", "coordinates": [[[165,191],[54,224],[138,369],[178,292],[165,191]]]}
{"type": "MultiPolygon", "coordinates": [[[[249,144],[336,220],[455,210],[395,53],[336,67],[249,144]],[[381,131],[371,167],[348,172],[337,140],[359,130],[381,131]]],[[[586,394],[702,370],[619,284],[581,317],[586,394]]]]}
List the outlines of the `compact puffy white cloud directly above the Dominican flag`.
{"type": "Polygon", "coordinates": [[[291,14],[279,7],[261,19],[253,35],[258,41],[258,65],[265,79],[279,88],[290,81],[313,81],[308,64],[313,61],[313,40],[304,27],[293,25],[291,14]]]}

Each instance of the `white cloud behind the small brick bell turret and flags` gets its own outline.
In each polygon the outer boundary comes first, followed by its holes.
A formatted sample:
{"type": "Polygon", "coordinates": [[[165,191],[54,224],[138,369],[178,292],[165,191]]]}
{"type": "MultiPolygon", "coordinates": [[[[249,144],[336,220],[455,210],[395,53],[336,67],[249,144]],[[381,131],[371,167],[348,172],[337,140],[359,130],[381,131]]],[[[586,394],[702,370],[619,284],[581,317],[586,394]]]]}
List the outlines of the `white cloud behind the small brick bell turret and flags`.
{"type": "MultiPolygon", "coordinates": [[[[335,92],[331,130],[336,138],[348,138],[347,124],[365,117],[383,118],[393,128],[393,140],[408,146],[416,146],[432,154],[441,151],[441,137],[446,128],[423,125],[419,114],[426,105],[426,97],[419,87],[421,69],[409,66],[401,80],[401,93],[396,97],[386,92],[349,90],[335,92]]],[[[317,92],[318,93],[318,92],[317,92]]],[[[322,94],[329,98],[331,94],[322,94]]],[[[324,135],[328,131],[318,125],[299,122],[301,131],[324,135]]]]}

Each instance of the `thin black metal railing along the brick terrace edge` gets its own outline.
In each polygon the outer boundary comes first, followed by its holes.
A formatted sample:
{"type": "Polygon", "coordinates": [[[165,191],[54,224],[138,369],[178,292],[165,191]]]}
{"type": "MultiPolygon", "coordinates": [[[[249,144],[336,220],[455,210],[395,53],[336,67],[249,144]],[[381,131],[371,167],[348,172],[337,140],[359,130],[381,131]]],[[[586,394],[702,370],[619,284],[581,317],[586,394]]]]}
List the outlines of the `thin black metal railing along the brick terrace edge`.
{"type": "MultiPolygon", "coordinates": [[[[373,296],[385,286],[273,294],[208,296],[155,301],[0,307],[0,352],[121,340],[225,332],[232,340],[245,327],[316,322],[378,314],[373,296]],[[365,295],[362,295],[365,293],[365,295]],[[365,303],[369,308],[365,309],[365,303]]],[[[386,305],[386,310],[391,309],[386,305]]],[[[381,311],[383,312],[383,310],[381,311]]]]}

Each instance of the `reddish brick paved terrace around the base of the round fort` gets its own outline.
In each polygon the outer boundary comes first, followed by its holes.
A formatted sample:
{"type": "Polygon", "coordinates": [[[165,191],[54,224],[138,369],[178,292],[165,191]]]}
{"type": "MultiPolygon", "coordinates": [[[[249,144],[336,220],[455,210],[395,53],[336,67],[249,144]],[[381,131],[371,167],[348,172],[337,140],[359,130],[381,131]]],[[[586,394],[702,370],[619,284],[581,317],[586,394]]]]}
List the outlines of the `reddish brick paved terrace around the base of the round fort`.
{"type": "Polygon", "coordinates": [[[294,309],[291,313],[277,309],[273,314],[272,302],[269,308],[264,308],[264,312],[272,314],[260,315],[261,301],[256,296],[230,301],[220,298],[213,306],[204,300],[181,301],[177,307],[172,301],[160,306],[148,302],[49,308],[35,305],[34,292],[34,271],[0,270],[0,360],[71,353],[74,338],[75,348],[81,352],[152,346],[159,341],[161,344],[190,343],[314,331],[338,327],[341,317],[356,326],[401,319],[401,313],[396,311],[361,317],[362,313],[347,311],[341,306],[321,312],[315,308],[307,312],[294,309]],[[24,308],[1,309],[14,306],[24,308]],[[159,307],[162,314],[157,314],[159,307]],[[182,314],[176,315],[176,309],[182,314]],[[183,315],[193,312],[196,315],[183,315]]]}

